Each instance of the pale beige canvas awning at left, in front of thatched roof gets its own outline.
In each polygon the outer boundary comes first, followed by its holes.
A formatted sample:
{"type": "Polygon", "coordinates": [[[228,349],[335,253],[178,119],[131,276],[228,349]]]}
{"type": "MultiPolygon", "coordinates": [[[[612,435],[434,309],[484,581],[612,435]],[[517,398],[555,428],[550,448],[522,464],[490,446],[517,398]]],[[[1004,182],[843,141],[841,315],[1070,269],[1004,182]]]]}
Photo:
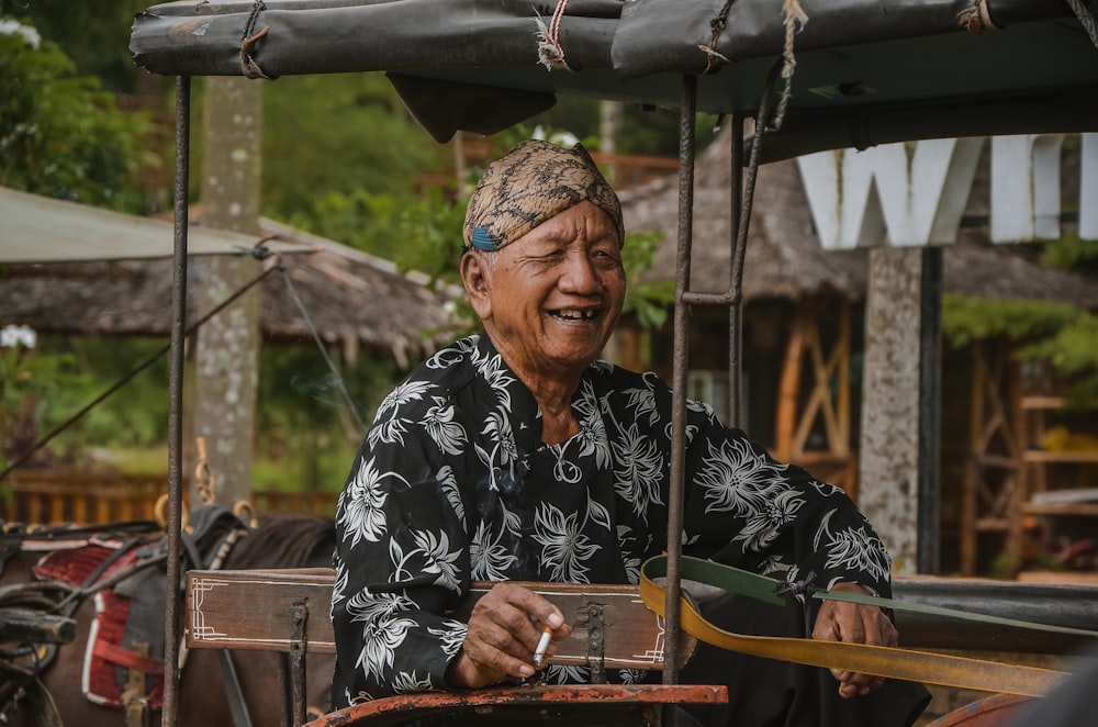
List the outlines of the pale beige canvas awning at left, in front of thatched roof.
{"type": "MultiPolygon", "coordinates": [[[[171,257],[173,225],[0,187],[0,262],[59,262],[171,257]]],[[[242,255],[260,237],[191,226],[192,255],[242,255]]],[[[271,241],[279,253],[312,250],[271,241]]]]}

